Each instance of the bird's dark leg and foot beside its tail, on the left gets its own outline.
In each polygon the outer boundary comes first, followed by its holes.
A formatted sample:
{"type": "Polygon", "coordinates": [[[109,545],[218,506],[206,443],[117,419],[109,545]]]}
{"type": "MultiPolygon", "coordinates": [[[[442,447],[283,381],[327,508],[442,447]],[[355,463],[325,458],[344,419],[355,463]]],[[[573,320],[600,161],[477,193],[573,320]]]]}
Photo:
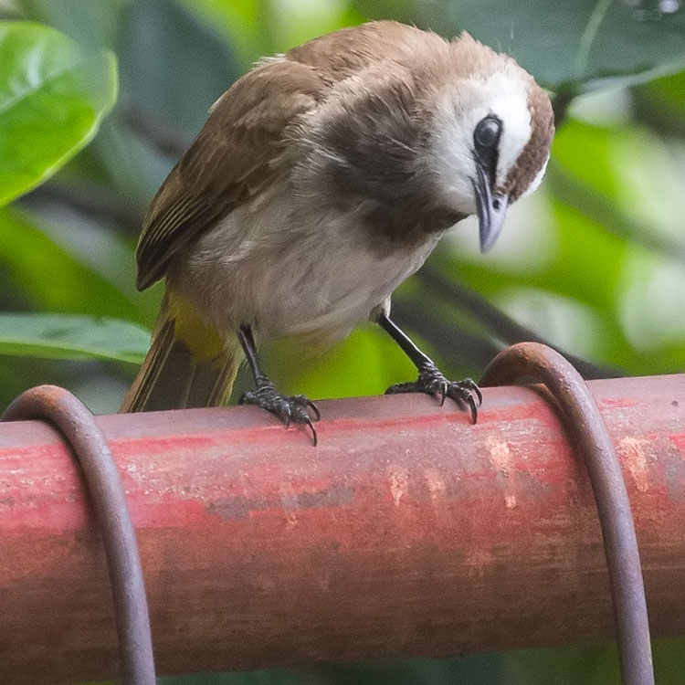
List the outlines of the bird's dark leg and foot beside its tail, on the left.
{"type": "Polygon", "coordinates": [[[316,445],[316,429],[311,423],[308,409],[314,420],[321,418],[319,407],[304,395],[281,395],[269,378],[262,372],[257,356],[257,345],[249,326],[241,326],[237,338],[248,359],[249,368],[255,378],[255,389],[246,391],[239,399],[241,405],[257,405],[275,414],[286,425],[302,424],[311,428],[311,437],[316,445]]]}

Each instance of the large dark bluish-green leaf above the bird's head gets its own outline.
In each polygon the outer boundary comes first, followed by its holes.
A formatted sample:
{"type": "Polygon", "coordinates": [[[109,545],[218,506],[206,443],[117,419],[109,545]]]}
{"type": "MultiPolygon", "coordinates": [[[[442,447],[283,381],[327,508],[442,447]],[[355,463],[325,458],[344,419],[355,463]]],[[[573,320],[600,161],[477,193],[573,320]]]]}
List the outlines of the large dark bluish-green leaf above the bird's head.
{"type": "MultiPolygon", "coordinates": [[[[378,16],[378,5],[358,5],[378,16]]],[[[404,7],[406,0],[393,5],[404,7]]],[[[652,71],[685,65],[685,10],[659,8],[655,0],[451,0],[415,2],[413,18],[452,37],[466,29],[515,57],[553,89],[586,90],[597,79],[643,80],[652,71]]]]}

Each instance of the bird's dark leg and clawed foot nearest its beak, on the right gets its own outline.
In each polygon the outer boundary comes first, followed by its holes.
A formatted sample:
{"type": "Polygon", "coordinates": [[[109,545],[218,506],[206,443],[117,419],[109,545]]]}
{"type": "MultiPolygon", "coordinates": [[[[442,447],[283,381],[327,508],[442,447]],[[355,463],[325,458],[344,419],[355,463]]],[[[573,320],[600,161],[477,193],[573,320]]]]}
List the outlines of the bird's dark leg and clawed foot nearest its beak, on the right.
{"type": "Polygon", "coordinates": [[[458,405],[470,407],[471,418],[475,424],[478,417],[478,407],[482,402],[482,395],[480,395],[478,385],[470,378],[465,378],[463,381],[448,381],[437,369],[437,366],[433,364],[433,360],[427,354],[422,353],[406,333],[394,321],[391,321],[385,313],[380,313],[376,321],[402,348],[402,351],[416,364],[418,369],[416,381],[391,385],[385,393],[427,393],[428,395],[437,395],[440,397],[441,405],[445,403],[445,397],[451,397],[458,405]],[[478,402],[476,402],[476,398],[478,398],[478,402]]]}

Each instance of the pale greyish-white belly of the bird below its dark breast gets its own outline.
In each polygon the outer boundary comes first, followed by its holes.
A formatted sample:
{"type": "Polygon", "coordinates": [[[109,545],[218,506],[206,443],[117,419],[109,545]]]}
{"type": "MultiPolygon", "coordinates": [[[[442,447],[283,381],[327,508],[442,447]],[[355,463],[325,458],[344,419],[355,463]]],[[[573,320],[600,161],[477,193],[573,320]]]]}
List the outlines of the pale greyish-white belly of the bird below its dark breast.
{"type": "Polygon", "coordinates": [[[247,324],[262,339],[334,341],[423,264],[439,235],[384,255],[364,238],[347,216],[316,217],[303,226],[288,214],[234,212],[197,241],[171,279],[221,331],[247,324]]]}

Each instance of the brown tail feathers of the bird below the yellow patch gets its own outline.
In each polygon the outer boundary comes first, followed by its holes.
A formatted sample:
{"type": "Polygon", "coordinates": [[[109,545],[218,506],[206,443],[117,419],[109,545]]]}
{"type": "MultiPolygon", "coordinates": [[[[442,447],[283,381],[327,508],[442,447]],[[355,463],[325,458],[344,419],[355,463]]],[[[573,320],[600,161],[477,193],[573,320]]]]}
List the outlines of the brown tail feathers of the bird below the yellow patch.
{"type": "Polygon", "coordinates": [[[231,393],[242,361],[239,351],[234,348],[220,357],[196,359],[177,337],[175,321],[165,309],[121,413],[219,406],[231,393]]]}

